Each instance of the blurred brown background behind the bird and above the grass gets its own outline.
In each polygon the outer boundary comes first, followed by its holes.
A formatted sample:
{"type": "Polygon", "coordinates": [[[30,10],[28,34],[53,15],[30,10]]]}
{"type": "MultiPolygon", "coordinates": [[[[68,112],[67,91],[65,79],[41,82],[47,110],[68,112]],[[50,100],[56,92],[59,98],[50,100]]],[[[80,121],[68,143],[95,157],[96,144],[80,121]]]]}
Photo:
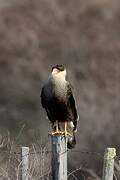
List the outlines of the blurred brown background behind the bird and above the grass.
{"type": "Polygon", "coordinates": [[[55,64],[74,87],[76,149],[120,153],[120,1],[0,0],[1,133],[14,138],[24,126],[20,143],[48,139],[40,91],[55,64]]]}

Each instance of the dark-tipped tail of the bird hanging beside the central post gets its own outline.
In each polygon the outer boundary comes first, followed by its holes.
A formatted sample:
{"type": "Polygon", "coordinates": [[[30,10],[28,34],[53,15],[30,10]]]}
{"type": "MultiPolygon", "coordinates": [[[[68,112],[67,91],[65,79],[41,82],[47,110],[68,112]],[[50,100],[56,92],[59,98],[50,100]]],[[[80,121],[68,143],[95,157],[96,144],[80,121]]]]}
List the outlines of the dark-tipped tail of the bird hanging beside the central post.
{"type": "Polygon", "coordinates": [[[75,132],[73,131],[72,136],[68,137],[67,148],[72,149],[76,145],[75,132]]]}

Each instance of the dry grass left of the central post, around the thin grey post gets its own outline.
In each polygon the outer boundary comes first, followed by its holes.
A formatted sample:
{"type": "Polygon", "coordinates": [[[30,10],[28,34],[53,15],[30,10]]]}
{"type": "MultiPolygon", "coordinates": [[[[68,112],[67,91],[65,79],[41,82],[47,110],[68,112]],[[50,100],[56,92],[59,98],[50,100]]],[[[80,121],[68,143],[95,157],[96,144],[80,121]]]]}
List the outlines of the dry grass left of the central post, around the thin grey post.
{"type": "MultiPolygon", "coordinates": [[[[12,142],[10,149],[6,153],[5,161],[0,165],[0,180],[19,180],[22,168],[20,147],[16,147],[12,142]]],[[[29,169],[26,172],[29,179],[50,179],[50,172],[50,154],[47,152],[46,147],[41,146],[39,148],[37,145],[32,144],[29,153],[29,169]]]]}

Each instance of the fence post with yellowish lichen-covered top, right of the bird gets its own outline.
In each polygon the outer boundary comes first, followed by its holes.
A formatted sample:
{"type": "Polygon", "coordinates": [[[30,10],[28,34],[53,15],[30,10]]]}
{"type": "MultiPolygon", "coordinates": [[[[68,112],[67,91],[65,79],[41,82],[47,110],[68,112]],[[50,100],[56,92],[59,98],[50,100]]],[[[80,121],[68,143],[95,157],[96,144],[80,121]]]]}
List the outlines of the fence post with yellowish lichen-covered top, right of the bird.
{"type": "Polygon", "coordinates": [[[107,148],[104,153],[103,177],[102,180],[113,180],[115,148],[107,148]]]}

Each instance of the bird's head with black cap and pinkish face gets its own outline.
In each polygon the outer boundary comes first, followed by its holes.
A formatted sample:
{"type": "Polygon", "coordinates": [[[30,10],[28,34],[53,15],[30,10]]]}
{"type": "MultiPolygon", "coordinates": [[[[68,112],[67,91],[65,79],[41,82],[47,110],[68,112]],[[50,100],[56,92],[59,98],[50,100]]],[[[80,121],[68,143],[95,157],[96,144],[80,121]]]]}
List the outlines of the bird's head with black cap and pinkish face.
{"type": "Polygon", "coordinates": [[[66,77],[66,69],[63,65],[56,65],[52,67],[52,76],[64,78],[66,77]]]}

